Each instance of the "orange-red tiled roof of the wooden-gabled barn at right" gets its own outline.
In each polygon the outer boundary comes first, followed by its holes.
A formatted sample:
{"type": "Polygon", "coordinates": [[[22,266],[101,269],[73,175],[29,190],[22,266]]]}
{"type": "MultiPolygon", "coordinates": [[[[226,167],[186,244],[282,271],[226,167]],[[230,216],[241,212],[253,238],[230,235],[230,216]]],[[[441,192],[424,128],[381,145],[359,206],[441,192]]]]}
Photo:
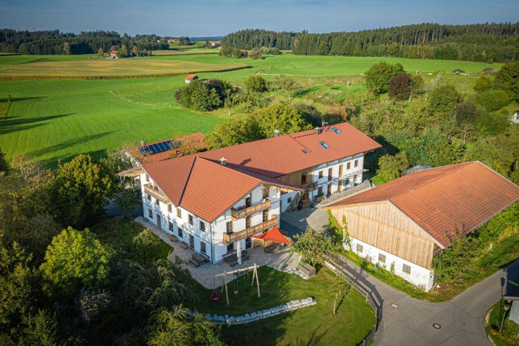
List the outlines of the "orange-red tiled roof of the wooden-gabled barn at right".
{"type": "Polygon", "coordinates": [[[390,201],[438,242],[470,233],[519,200],[519,187],[479,161],[414,172],[324,209],[390,201]]]}

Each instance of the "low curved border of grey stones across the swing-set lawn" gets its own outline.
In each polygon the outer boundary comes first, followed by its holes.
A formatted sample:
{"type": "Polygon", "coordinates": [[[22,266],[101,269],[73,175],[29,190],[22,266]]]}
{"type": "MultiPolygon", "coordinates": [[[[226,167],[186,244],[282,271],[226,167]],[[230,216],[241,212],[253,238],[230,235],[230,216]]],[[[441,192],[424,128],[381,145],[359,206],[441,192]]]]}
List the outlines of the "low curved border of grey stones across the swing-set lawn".
{"type": "MultiPolygon", "coordinates": [[[[264,318],[270,317],[270,316],[276,316],[280,315],[285,312],[309,307],[310,305],[317,304],[317,301],[313,299],[312,297],[308,297],[301,300],[292,300],[286,304],[278,305],[277,307],[274,307],[272,309],[267,310],[261,310],[256,311],[250,314],[244,314],[242,316],[221,316],[217,314],[206,314],[204,317],[206,317],[209,321],[214,322],[216,324],[244,324],[244,323],[250,323],[254,321],[263,320],[264,318]]],[[[196,313],[196,312],[195,312],[196,313]]],[[[202,314],[203,315],[203,314],[202,314]]]]}

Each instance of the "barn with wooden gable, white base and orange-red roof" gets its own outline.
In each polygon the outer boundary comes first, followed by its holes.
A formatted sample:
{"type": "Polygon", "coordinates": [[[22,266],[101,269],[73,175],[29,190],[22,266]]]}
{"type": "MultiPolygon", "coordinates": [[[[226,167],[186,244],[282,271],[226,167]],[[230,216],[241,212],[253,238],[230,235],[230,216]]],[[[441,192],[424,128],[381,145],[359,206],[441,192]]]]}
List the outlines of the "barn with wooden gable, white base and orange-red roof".
{"type": "Polygon", "coordinates": [[[475,161],[419,170],[323,209],[346,217],[354,252],[429,290],[432,259],[450,239],[518,200],[517,185],[475,161]]]}

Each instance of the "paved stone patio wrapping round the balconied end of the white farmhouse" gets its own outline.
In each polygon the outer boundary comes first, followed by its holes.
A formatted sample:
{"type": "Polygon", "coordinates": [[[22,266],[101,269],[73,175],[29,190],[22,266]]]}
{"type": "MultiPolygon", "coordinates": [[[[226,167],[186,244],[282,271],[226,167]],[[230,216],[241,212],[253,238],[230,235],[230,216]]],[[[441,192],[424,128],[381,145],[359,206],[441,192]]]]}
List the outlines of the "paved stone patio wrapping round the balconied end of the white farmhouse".
{"type": "MultiPolygon", "coordinates": [[[[189,271],[191,276],[203,287],[208,289],[213,289],[214,275],[220,274],[224,271],[232,271],[239,268],[250,267],[251,265],[254,265],[254,263],[256,263],[258,267],[261,267],[262,265],[268,265],[269,267],[284,266],[285,268],[297,267],[297,260],[299,257],[297,255],[290,255],[288,248],[283,248],[274,253],[266,254],[263,251],[263,247],[247,249],[247,253],[250,258],[246,261],[243,261],[241,266],[236,264],[231,267],[225,262],[220,262],[216,264],[205,263],[199,267],[195,267],[192,263],[189,263],[189,259],[192,258],[193,254],[198,252],[195,252],[189,248],[182,248],[180,246],[180,242],[172,242],[169,234],[163,232],[157,227],[156,224],[149,222],[142,216],[135,218],[135,222],[142,224],[145,228],[149,229],[156,236],[162,239],[163,242],[171,246],[173,248],[173,252],[171,252],[168,259],[173,262],[176,257],[180,258],[182,260],[183,267],[189,271]]],[[[233,280],[233,277],[229,275],[227,282],[230,282],[231,280],[233,280]]],[[[222,285],[222,278],[217,280],[216,285],[222,285]]]]}

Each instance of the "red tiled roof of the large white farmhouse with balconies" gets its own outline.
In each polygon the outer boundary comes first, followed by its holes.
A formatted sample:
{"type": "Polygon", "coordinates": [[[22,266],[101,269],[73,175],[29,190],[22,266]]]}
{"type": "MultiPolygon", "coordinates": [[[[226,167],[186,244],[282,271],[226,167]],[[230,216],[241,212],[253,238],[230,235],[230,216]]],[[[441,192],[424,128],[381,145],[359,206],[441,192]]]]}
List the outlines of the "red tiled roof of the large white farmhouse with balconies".
{"type": "Polygon", "coordinates": [[[315,130],[296,132],[193,155],[148,161],[143,168],[174,205],[185,207],[206,221],[213,221],[262,181],[302,190],[276,177],[380,147],[348,123],[334,127],[342,133],[336,134],[331,130],[319,135],[315,130]],[[330,148],[321,147],[320,141],[326,142],[330,148]],[[307,154],[302,152],[303,149],[307,154]],[[226,166],[220,164],[222,156],[227,159],[226,166]],[[210,172],[202,174],[200,167],[210,169],[210,172]],[[215,180],[213,174],[221,177],[215,180]],[[228,177],[224,178],[224,175],[228,177]]]}

